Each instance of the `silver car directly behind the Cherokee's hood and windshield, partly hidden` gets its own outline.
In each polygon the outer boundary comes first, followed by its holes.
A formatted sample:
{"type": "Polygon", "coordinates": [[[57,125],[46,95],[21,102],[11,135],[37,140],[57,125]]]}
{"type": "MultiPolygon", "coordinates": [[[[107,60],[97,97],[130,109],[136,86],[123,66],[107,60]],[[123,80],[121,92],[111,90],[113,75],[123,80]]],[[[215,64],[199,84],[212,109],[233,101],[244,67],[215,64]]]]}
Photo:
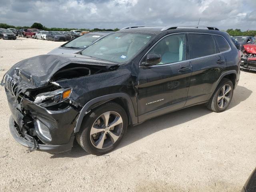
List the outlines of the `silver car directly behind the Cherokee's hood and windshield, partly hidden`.
{"type": "Polygon", "coordinates": [[[78,53],[113,32],[93,32],[75,38],[62,46],[50,51],[48,54],[78,53]]]}

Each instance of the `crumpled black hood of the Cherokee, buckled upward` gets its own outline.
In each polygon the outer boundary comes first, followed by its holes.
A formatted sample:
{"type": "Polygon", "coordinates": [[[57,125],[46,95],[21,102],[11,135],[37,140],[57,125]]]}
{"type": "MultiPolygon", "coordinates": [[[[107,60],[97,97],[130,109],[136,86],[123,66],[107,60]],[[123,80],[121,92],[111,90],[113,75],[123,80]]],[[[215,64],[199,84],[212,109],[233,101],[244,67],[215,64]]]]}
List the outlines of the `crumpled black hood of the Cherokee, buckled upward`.
{"type": "Polygon", "coordinates": [[[42,87],[50,82],[51,77],[58,70],[73,63],[85,64],[86,66],[102,66],[106,69],[118,65],[78,54],[46,54],[20,61],[12,66],[6,74],[14,76],[15,73],[20,73],[27,78],[26,82],[35,87],[42,87]]]}

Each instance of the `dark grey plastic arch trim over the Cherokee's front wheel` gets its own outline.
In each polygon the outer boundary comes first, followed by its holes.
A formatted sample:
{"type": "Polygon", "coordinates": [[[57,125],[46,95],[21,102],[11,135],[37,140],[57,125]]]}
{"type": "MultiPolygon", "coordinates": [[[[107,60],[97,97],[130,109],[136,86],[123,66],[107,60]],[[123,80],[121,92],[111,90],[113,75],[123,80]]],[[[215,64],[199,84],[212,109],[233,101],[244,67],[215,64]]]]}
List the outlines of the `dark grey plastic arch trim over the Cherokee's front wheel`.
{"type": "Polygon", "coordinates": [[[124,110],[126,111],[126,114],[128,116],[128,125],[131,124],[137,124],[138,123],[138,118],[135,115],[134,112],[134,106],[132,104],[132,100],[130,99],[130,96],[128,96],[128,94],[126,93],[114,93],[114,94],[108,94],[108,95],[104,95],[104,96],[100,96],[97,98],[94,98],[92,100],[90,100],[89,102],[87,102],[82,110],[80,111],[78,118],[77,118],[77,122],[76,122],[76,126],[74,128],[74,132],[79,132],[81,124],[82,124],[82,120],[84,119],[84,116],[86,116],[86,114],[88,114],[90,112],[90,110],[101,106],[102,104],[106,103],[106,102],[116,102],[117,104],[120,104],[124,110]]]}

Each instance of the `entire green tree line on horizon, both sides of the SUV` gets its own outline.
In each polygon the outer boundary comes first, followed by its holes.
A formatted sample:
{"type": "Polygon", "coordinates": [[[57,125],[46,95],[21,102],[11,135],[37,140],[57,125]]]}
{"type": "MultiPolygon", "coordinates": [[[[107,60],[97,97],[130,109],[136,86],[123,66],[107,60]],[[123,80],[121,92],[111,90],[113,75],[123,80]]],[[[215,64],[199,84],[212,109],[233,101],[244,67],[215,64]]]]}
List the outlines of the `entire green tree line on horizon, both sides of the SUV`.
{"type": "MultiPolygon", "coordinates": [[[[118,28],[115,29],[99,29],[99,28],[94,28],[94,29],[77,29],[77,28],[48,28],[46,26],[43,26],[41,23],[33,23],[32,26],[13,26],[13,25],[8,25],[6,23],[0,23],[0,28],[15,28],[15,29],[28,29],[28,28],[36,28],[36,29],[42,29],[46,31],[71,31],[71,30],[82,30],[82,31],[118,31],[118,28]]],[[[256,30],[248,30],[248,31],[241,31],[240,29],[228,29],[226,32],[231,35],[231,36],[256,36],[256,30]]]]}

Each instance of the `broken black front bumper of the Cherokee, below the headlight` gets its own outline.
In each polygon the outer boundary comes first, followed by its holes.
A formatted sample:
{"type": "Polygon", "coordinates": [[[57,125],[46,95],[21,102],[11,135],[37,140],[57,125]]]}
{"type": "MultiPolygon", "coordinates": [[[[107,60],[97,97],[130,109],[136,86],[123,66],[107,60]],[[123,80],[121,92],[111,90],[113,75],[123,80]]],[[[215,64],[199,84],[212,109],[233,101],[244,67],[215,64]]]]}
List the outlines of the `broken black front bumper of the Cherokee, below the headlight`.
{"type": "Polygon", "coordinates": [[[49,111],[23,98],[22,104],[6,90],[12,116],[9,126],[14,139],[33,150],[60,153],[71,150],[77,113],[72,107],[49,111]],[[22,108],[22,110],[21,110],[22,108]],[[46,132],[50,139],[46,137],[46,132]]]}

